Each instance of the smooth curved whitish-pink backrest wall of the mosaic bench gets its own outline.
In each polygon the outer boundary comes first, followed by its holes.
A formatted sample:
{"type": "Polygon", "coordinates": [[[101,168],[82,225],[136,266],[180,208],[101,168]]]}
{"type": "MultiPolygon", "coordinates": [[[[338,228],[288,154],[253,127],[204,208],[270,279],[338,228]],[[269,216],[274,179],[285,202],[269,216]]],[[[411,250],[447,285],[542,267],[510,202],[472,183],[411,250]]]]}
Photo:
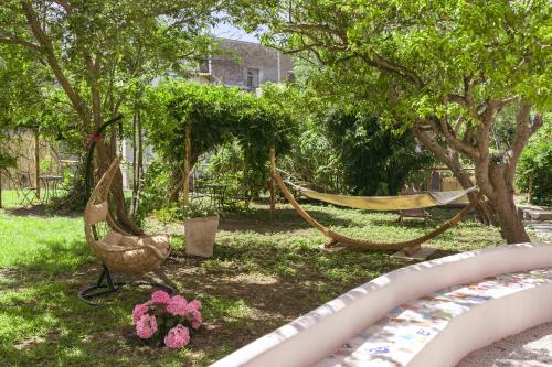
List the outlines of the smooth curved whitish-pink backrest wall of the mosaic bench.
{"type": "Polygon", "coordinates": [[[518,244],[401,268],[325,303],[212,367],[310,366],[394,306],[447,287],[545,267],[552,267],[551,245],[518,244]]]}

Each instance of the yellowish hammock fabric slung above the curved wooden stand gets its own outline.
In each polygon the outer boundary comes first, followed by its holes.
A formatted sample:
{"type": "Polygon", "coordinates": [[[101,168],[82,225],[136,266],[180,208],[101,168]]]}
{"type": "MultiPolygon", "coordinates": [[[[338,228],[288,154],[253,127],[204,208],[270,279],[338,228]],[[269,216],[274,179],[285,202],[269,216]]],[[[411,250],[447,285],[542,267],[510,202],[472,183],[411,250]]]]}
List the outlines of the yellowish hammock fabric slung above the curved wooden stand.
{"type": "Polygon", "coordinates": [[[325,194],[301,186],[294,186],[302,196],[329,204],[367,211],[406,211],[446,205],[467,193],[477,191],[477,186],[474,186],[468,190],[431,192],[426,194],[402,196],[348,196],[325,194]]]}

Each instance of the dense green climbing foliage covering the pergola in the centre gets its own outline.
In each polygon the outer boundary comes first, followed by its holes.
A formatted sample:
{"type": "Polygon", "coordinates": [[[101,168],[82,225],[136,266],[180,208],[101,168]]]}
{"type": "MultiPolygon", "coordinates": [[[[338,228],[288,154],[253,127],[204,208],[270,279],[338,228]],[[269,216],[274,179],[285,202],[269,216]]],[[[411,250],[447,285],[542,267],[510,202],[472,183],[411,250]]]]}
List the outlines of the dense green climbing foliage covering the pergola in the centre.
{"type": "Polygon", "coordinates": [[[172,180],[158,183],[150,194],[156,190],[160,195],[172,192],[181,180],[182,173],[176,168],[183,165],[187,127],[191,129],[192,166],[202,154],[236,141],[242,165],[247,166],[245,182],[253,193],[258,193],[268,180],[270,144],[279,153],[289,150],[293,121],[270,100],[235,88],[178,82],[152,87],[146,99],[148,141],[173,168],[172,180]]]}

